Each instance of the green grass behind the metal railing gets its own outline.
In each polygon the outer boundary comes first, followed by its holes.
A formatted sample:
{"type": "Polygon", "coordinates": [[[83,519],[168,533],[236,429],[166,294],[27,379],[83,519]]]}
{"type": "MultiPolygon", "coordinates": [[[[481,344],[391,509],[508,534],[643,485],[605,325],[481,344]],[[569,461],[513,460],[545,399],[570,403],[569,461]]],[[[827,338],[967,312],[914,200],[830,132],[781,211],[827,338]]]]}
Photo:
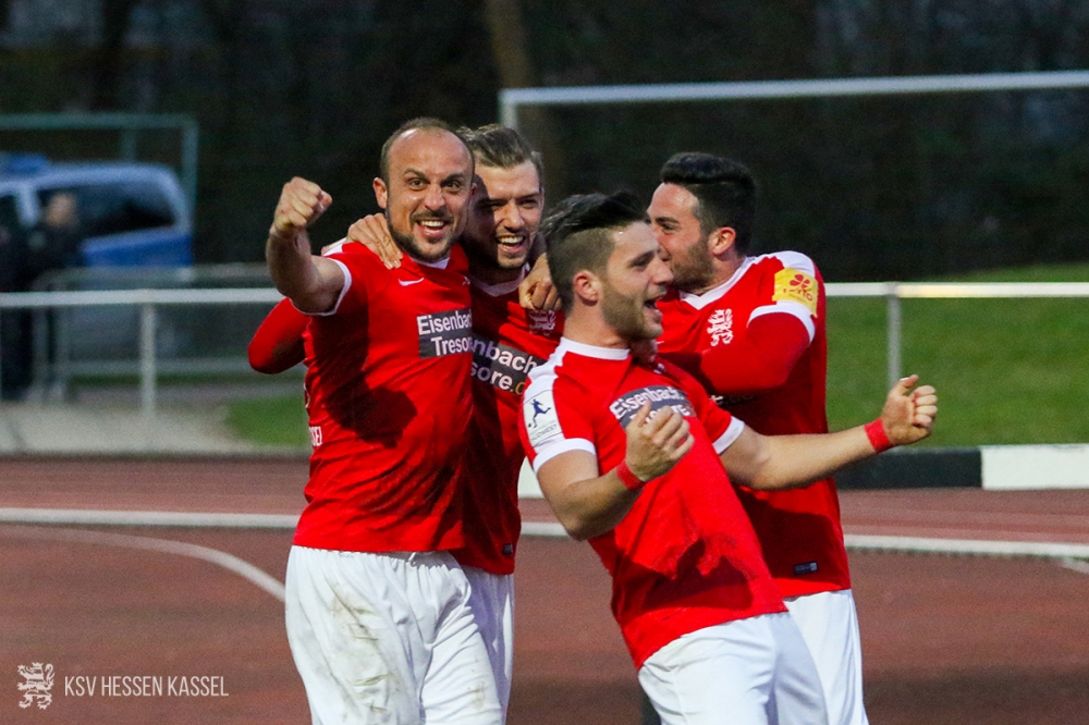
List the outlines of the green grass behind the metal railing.
{"type": "MultiPolygon", "coordinates": [[[[953,282],[1089,282],[1089,265],[989,270],[953,282]]],[[[871,420],[886,392],[885,303],[828,303],[833,430],[871,420]]],[[[906,299],[904,373],[938,388],[923,445],[1089,442],[1089,298],[906,299]]],[[[240,401],[228,423],[269,446],[307,446],[302,395],[240,401]]]]}

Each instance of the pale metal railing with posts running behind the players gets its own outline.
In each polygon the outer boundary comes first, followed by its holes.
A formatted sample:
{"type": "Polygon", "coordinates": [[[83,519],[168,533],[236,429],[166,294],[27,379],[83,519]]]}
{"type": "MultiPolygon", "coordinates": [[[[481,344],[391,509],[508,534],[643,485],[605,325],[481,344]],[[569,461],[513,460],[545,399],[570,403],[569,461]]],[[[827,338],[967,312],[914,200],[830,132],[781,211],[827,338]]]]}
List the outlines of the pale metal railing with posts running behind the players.
{"type": "MultiPolygon", "coordinates": [[[[1011,297],[1089,297],[1089,282],[993,282],[993,283],[929,283],[929,282],[858,282],[829,283],[829,297],[884,297],[886,302],[886,336],[889,386],[901,378],[903,299],[968,299],[1011,297]]],[[[160,307],[195,305],[273,305],[282,295],[270,288],[222,290],[110,290],[77,292],[22,292],[0,294],[0,315],[4,311],[29,309],[72,309],[85,307],[135,307],[139,309],[138,373],[140,409],[155,416],[157,379],[160,372],[156,354],[158,310],[160,307]]],[[[2,356],[2,351],[0,351],[2,356]]],[[[0,357],[2,365],[2,357],[0,357]]],[[[216,366],[197,366],[191,372],[220,371],[216,366]]]]}

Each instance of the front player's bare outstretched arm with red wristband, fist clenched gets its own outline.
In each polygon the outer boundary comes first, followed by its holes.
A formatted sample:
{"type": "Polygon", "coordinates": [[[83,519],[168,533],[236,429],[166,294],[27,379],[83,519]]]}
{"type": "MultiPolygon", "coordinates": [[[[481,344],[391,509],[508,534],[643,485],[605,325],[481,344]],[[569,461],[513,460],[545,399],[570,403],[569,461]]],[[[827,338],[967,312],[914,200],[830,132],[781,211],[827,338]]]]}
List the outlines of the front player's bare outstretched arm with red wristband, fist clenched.
{"type": "Polygon", "coordinates": [[[930,435],[938,415],[938,395],[930,385],[911,388],[918,376],[897,382],[885,398],[881,417],[822,435],[760,435],[746,428],[722,454],[734,483],[752,489],[790,489],[820,480],[848,464],[896,445],[930,435]]]}

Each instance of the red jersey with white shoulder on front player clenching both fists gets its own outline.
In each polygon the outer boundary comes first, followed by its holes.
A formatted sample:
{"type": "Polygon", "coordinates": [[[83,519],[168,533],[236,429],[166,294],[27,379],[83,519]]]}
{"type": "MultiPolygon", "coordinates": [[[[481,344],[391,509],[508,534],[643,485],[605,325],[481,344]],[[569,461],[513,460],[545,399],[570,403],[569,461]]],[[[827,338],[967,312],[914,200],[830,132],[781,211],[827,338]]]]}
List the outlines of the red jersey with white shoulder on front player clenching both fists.
{"type": "Polygon", "coordinates": [[[688,632],[786,611],[719,459],[744,426],[680,368],[562,340],[523,397],[519,429],[534,470],[570,451],[612,470],[626,452],[624,427],[648,401],[682,413],[695,445],[644,487],[620,524],[590,539],[612,575],[613,616],[636,667],[688,632]]]}

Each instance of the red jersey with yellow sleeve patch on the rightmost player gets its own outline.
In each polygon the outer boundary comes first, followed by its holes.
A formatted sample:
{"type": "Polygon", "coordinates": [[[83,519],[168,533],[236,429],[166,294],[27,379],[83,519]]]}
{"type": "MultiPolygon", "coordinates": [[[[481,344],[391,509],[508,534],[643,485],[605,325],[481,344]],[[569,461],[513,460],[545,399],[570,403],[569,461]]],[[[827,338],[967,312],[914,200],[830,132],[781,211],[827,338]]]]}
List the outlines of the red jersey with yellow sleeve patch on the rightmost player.
{"type": "MultiPolygon", "coordinates": [[[[754,390],[751,382],[738,374],[729,381],[730,390],[708,392],[720,406],[760,433],[828,432],[824,283],[808,257],[796,251],[749,257],[724,284],[701,295],[671,292],[658,308],[665,330],[659,340],[663,354],[705,353],[718,346],[729,351],[731,345],[745,343],[754,320],[762,316],[796,318],[808,332],[809,345],[784,384],[731,395],[732,391],[754,390]]],[[[731,370],[717,372],[721,380],[731,370]]],[[[783,597],[851,587],[840,502],[831,478],[792,491],[739,488],[738,495],[783,597]]]]}

